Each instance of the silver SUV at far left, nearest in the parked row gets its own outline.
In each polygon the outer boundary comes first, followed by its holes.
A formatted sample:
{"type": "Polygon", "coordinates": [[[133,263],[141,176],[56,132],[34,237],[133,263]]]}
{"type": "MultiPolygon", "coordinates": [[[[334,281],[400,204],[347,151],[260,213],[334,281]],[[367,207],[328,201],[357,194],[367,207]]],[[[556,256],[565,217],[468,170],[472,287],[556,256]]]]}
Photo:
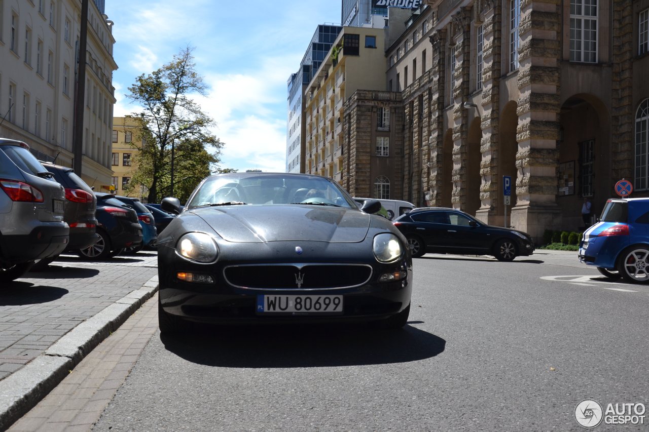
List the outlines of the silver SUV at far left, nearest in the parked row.
{"type": "Polygon", "coordinates": [[[60,254],[69,241],[63,186],[22,141],[0,138],[0,282],[34,261],[60,254]]]}

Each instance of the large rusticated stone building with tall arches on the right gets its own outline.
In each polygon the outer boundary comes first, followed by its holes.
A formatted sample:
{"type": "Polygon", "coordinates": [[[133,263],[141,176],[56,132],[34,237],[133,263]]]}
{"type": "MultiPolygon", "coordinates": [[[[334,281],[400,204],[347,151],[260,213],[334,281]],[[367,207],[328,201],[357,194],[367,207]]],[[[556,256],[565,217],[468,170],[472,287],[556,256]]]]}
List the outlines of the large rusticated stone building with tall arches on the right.
{"type": "Polygon", "coordinates": [[[649,196],[649,0],[424,3],[386,47],[404,199],[539,239],[622,178],[649,196]]]}

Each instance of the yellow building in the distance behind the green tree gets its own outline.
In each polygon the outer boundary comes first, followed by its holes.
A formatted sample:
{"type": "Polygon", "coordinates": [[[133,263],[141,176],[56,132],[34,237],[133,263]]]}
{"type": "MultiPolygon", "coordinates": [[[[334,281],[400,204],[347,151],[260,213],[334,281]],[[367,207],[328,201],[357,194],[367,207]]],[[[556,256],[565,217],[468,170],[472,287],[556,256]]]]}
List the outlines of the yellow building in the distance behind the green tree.
{"type": "Polygon", "coordinates": [[[116,195],[140,198],[144,201],[148,193],[144,186],[134,187],[128,193],[125,191],[136,170],[134,159],[141,146],[140,142],[134,142],[134,139],[138,136],[136,127],[136,122],[132,119],[113,117],[111,158],[113,177],[111,186],[114,186],[116,195]]]}

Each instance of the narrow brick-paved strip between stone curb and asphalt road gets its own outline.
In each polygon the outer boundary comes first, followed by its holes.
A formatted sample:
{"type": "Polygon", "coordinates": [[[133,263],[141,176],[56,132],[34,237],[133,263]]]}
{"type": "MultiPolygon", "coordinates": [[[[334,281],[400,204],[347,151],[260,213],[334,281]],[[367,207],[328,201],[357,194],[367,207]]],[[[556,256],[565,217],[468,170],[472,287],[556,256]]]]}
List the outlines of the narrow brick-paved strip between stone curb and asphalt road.
{"type": "Polygon", "coordinates": [[[158,330],[158,294],[99,344],[8,431],[89,431],[158,330]]]}

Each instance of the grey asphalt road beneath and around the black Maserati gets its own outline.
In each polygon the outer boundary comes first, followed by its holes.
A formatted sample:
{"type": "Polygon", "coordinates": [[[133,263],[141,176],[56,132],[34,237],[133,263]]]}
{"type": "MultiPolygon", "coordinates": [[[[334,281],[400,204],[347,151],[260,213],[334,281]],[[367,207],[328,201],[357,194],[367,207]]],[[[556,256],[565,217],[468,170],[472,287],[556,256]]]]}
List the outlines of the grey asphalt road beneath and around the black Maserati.
{"type": "Polygon", "coordinates": [[[582,430],[585,398],[649,402],[649,287],[574,259],[415,259],[400,331],[155,333],[93,430],[582,430]]]}

